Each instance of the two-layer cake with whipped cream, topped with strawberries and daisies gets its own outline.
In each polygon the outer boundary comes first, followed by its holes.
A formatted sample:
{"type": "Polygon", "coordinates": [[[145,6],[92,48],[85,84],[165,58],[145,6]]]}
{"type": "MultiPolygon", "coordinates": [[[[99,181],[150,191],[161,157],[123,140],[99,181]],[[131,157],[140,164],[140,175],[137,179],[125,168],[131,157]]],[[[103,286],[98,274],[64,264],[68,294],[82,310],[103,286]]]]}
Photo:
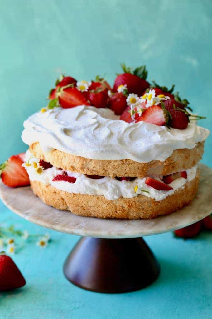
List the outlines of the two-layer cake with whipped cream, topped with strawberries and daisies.
{"type": "Polygon", "coordinates": [[[45,204],[80,216],[151,219],[194,199],[209,135],[196,124],[203,117],[174,85],[147,82],[144,66],[122,68],[113,89],[99,77],[60,78],[48,106],[24,121],[22,169],[45,204]]]}

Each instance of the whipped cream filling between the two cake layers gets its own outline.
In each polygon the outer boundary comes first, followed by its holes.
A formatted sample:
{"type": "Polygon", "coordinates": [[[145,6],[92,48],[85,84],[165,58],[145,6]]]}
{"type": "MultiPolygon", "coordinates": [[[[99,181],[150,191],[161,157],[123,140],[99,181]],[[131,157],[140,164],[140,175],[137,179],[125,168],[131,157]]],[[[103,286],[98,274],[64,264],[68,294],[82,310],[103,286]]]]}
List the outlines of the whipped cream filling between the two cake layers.
{"type": "MultiPolygon", "coordinates": [[[[52,180],[55,176],[64,173],[63,170],[56,167],[51,167],[43,170],[41,174],[38,174],[36,169],[33,167],[33,162],[38,163],[39,159],[31,156],[31,153],[27,151],[26,161],[28,160],[29,163],[31,163],[31,166],[26,166],[25,168],[31,181],[39,181],[46,185],[52,185],[59,190],[73,194],[103,195],[109,200],[115,200],[120,197],[132,198],[141,194],[154,198],[156,201],[161,201],[167,196],[172,195],[175,190],[183,188],[187,182],[192,181],[196,176],[197,170],[197,166],[187,169],[187,179],[183,177],[177,178],[169,184],[169,186],[173,188],[172,190],[163,191],[146,185],[146,177],[135,178],[133,181],[120,182],[116,178],[112,177],[106,176],[101,179],[92,179],[81,173],[67,171],[68,176],[76,178],[75,183],[69,183],[65,181],[53,182],[52,180]],[[137,192],[134,190],[135,186],[138,186],[137,192]],[[145,190],[146,192],[142,190],[145,190]]],[[[153,177],[159,179],[156,176],[153,177]]]]}

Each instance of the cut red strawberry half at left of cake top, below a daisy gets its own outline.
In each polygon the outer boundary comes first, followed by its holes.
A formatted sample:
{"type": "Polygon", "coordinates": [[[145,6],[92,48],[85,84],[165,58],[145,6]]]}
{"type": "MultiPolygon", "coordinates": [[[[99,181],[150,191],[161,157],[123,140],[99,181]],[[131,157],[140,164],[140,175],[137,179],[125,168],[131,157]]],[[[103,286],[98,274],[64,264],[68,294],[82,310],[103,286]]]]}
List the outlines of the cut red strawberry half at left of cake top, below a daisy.
{"type": "Polygon", "coordinates": [[[72,108],[78,105],[90,105],[82,92],[76,87],[67,87],[59,93],[59,104],[62,108],[72,108]]]}

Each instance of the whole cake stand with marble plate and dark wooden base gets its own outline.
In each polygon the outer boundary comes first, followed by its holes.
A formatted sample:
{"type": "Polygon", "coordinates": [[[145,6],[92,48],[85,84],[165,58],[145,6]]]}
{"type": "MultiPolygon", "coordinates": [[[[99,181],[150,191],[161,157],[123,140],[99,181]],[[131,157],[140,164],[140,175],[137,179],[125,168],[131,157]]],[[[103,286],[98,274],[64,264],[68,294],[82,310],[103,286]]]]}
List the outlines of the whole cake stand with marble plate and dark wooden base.
{"type": "Polygon", "coordinates": [[[80,217],[45,205],[30,187],[9,188],[0,182],[3,203],[40,226],[83,236],[67,257],[63,271],[74,285],[102,293],[123,293],[150,285],[160,273],[153,253],[141,238],[188,226],[212,212],[212,169],[200,164],[201,179],[193,202],[168,216],[151,220],[80,217]]]}

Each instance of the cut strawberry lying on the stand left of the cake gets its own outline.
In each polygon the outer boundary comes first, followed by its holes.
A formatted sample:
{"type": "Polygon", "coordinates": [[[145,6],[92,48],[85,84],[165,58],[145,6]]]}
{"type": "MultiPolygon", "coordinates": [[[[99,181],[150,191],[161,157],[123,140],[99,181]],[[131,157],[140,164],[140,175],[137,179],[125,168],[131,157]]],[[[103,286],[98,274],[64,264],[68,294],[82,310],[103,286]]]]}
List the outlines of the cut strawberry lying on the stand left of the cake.
{"type": "Polygon", "coordinates": [[[10,187],[30,185],[29,175],[22,166],[23,160],[19,155],[11,156],[5,163],[0,165],[2,170],[2,182],[10,187]]]}

